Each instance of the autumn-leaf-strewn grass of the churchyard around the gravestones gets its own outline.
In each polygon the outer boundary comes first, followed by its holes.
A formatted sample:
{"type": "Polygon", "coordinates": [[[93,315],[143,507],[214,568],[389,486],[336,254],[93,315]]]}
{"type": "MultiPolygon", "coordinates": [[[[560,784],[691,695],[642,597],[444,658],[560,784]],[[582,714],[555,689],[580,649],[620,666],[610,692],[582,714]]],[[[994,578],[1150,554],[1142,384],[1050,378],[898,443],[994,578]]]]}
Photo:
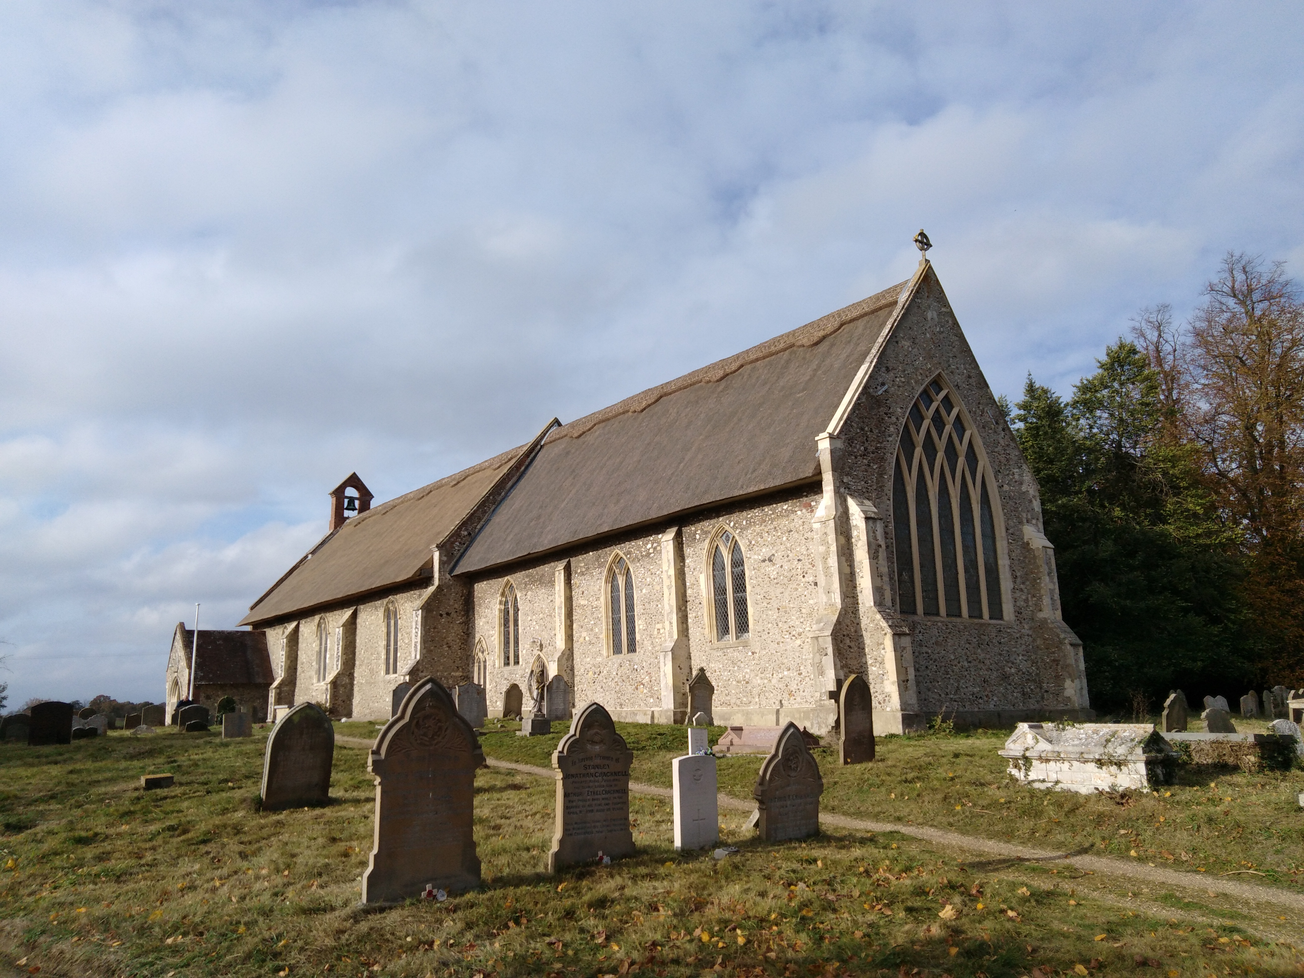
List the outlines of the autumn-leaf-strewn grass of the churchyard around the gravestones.
{"type": "MultiPolygon", "coordinates": [[[[490,721],[486,756],[546,767],[561,734],[526,739],[514,728],[490,721]]],[[[336,725],[343,738],[376,729],[336,725]]],[[[669,786],[683,729],[618,729],[635,751],[632,780],[669,786]]],[[[476,778],[482,888],[361,911],[366,751],[336,745],[331,805],[263,814],[266,733],[0,745],[0,968],[159,978],[1304,971],[1299,771],[1185,765],[1158,795],[1084,797],[1017,786],[996,755],[1005,733],[880,738],[879,759],[850,768],[815,751],[825,812],[1153,863],[1189,879],[1174,885],[891,831],[828,827],[765,845],[734,808],[721,808],[721,827],[735,854],[681,855],[669,799],[645,794],[631,795],[636,857],[549,876],[553,782],[490,768],[476,778]],[[142,792],[140,776],[156,772],[176,785],[142,792]],[[1260,889],[1215,892],[1213,879],[1260,889]]],[[[760,760],[721,759],[721,792],[750,798],[760,760]]]]}

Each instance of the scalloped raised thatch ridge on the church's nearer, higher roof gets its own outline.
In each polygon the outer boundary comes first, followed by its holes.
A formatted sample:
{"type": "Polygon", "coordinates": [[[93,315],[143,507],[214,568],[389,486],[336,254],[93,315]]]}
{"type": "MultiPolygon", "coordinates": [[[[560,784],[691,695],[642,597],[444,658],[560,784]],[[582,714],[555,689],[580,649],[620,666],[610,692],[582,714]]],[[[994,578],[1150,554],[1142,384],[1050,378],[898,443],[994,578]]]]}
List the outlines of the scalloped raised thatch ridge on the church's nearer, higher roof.
{"type": "Polygon", "coordinates": [[[716,360],[705,366],[699,366],[696,370],[690,370],[689,373],[675,377],[672,381],[666,381],[656,387],[648,387],[647,390],[625,398],[623,400],[618,400],[605,408],[593,411],[583,417],[578,417],[570,424],[562,425],[554,430],[548,437],[548,441],[553,441],[554,438],[583,438],[600,424],[621,417],[622,415],[642,413],[672,394],[678,394],[679,391],[695,387],[699,383],[719,383],[726,377],[738,373],[738,370],[742,370],[745,366],[751,366],[752,364],[768,360],[769,357],[788,349],[793,349],[794,347],[818,346],[855,319],[875,313],[889,305],[895,305],[901,289],[909,284],[910,279],[898,282],[897,284],[884,288],[880,292],[875,292],[866,299],[852,303],[852,305],[836,309],[835,312],[807,322],[803,326],[798,326],[794,330],[781,333],[777,336],[772,336],[771,339],[758,343],[754,347],[748,347],[739,353],[734,353],[722,360],[716,360]]]}

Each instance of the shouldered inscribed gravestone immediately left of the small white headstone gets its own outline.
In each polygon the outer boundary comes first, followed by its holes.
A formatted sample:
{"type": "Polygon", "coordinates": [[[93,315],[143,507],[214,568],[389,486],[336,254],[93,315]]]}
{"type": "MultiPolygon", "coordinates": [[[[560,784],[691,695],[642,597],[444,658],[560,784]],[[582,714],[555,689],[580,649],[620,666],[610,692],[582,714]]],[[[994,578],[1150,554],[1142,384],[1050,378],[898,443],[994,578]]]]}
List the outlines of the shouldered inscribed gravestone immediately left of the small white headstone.
{"type": "Polygon", "coordinates": [[[634,751],[615,733],[600,703],[571,721],[553,752],[557,772],[557,827],[548,871],[634,853],[630,831],[630,764],[634,751]]]}

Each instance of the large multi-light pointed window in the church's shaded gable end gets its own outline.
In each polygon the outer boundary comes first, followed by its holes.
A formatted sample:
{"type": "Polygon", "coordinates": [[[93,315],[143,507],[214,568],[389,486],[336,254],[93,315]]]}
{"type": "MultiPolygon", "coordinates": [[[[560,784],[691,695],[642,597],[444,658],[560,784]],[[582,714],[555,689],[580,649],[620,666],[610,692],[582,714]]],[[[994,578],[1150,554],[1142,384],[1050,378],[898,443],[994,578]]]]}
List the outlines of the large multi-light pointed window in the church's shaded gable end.
{"type": "Polygon", "coordinates": [[[902,614],[1004,618],[999,519],[982,442],[938,374],[910,406],[892,472],[902,614]]]}

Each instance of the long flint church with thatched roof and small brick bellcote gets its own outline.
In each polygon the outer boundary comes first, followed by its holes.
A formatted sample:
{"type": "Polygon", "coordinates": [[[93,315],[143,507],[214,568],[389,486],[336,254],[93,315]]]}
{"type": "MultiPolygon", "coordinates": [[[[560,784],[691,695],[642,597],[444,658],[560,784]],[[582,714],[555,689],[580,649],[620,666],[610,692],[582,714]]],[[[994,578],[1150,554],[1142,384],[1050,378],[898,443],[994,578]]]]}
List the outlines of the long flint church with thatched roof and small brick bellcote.
{"type": "Polygon", "coordinates": [[[490,716],[550,682],[556,717],[682,724],[702,674],[716,724],[824,733],[859,673],[880,734],[1093,716],[1037,481],[927,258],[396,499],[356,475],[330,496],[241,622],[269,713],[385,719],[433,675],[490,716]]]}

